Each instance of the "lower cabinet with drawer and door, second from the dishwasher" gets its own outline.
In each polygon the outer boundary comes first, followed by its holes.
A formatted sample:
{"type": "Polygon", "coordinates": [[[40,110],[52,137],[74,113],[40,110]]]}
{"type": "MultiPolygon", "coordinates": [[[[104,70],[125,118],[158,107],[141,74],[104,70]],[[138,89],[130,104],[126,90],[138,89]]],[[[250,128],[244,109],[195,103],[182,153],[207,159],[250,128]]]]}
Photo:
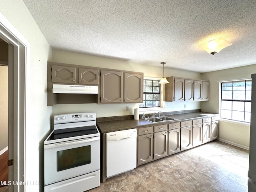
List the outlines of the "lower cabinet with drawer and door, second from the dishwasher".
{"type": "Polygon", "coordinates": [[[168,150],[167,124],[154,126],[154,159],[167,155],[168,150]]]}

